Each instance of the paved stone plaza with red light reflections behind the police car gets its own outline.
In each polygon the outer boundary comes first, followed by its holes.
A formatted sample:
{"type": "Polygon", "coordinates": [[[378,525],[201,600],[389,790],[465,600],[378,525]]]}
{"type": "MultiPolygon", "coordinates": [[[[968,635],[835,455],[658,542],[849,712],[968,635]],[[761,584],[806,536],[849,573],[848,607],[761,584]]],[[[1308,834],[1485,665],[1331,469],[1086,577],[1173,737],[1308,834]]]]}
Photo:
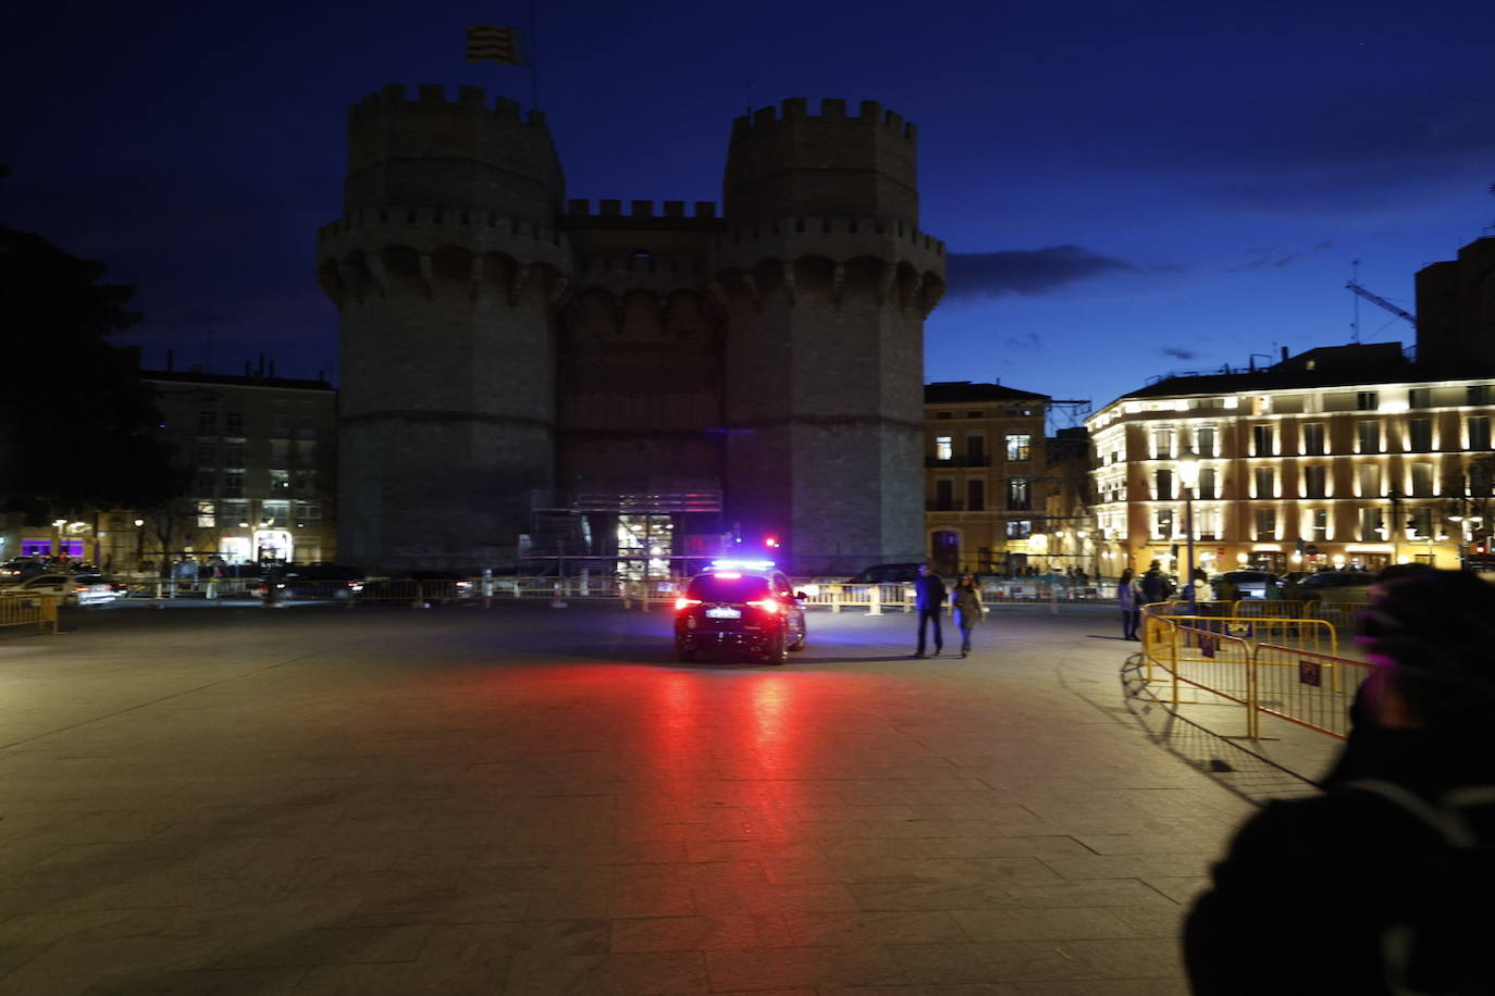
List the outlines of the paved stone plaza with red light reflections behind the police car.
{"type": "Polygon", "coordinates": [[[1187,902],[1302,779],[1129,699],[1114,609],[967,660],[912,618],[783,667],[577,603],[0,635],[0,993],[1187,992],[1187,902]]]}

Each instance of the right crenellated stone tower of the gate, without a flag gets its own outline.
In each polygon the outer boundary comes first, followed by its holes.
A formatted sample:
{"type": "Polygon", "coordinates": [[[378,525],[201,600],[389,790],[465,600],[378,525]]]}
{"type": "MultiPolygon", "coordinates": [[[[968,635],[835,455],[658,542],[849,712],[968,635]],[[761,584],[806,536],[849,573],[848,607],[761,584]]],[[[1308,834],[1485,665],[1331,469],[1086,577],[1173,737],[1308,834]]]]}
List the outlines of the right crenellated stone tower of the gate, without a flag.
{"type": "Polygon", "coordinates": [[[924,317],[945,257],[918,230],[913,125],[785,100],[736,121],[722,193],[730,518],[807,572],[921,558],[924,317]]]}

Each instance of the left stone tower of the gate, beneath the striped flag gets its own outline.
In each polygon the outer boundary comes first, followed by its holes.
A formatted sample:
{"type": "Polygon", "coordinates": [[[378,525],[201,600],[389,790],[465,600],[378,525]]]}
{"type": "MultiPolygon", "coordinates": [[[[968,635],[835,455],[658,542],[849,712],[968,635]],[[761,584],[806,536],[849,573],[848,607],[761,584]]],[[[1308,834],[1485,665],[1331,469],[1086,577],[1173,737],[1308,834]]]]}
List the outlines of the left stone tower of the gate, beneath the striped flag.
{"type": "Polygon", "coordinates": [[[342,312],[341,560],[513,560],[555,469],[564,184],[544,116],[475,87],[386,87],[350,111],[344,217],[318,260],[342,312]]]}

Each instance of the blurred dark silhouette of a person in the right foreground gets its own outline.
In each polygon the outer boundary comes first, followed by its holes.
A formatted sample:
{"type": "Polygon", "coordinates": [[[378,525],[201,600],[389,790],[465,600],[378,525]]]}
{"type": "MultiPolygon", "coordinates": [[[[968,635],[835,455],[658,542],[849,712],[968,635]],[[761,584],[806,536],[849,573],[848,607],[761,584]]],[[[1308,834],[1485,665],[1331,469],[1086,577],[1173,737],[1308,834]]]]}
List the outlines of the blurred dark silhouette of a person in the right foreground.
{"type": "MultiPolygon", "coordinates": [[[[1495,992],[1491,945],[1450,947],[1446,933],[1446,963],[1429,966],[1417,956],[1440,938],[1423,930],[1411,942],[1407,927],[1429,908],[1464,917],[1443,921],[1453,932],[1471,923],[1452,899],[1429,900],[1426,857],[1444,836],[1414,808],[1437,814],[1455,790],[1495,787],[1495,585],[1426,567],[1381,581],[1359,621],[1372,669],[1325,793],[1272,802],[1247,820],[1189,914],[1184,956],[1197,995],[1495,992]],[[1410,793],[1401,794],[1410,805],[1368,782],[1410,793]],[[1271,957],[1251,954],[1262,942],[1271,957]],[[1467,959],[1482,981],[1455,965],[1467,959]],[[1429,968],[1465,981],[1414,987],[1429,968]]],[[[1482,836],[1471,851],[1485,869],[1489,848],[1482,836]]],[[[1473,923],[1491,918],[1492,902],[1486,893],[1473,923]]]]}

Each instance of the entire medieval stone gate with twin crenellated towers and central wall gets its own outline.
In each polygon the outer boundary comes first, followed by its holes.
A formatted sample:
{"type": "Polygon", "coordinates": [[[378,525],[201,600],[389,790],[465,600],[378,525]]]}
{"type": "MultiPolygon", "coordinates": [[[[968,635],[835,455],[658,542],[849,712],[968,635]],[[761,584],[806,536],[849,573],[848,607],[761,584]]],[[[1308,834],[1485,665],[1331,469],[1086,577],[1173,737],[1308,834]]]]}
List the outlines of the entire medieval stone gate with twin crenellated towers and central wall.
{"type": "Polygon", "coordinates": [[[541,493],[585,509],[605,557],[598,496],[620,523],[712,490],[795,573],[919,557],[945,258],[915,181],[898,115],[797,99],[736,122],[722,217],[594,212],[562,200],[538,113],[441,87],[353,108],[320,245],[344,327],[339,558],[505,566],[541,493]]]}

